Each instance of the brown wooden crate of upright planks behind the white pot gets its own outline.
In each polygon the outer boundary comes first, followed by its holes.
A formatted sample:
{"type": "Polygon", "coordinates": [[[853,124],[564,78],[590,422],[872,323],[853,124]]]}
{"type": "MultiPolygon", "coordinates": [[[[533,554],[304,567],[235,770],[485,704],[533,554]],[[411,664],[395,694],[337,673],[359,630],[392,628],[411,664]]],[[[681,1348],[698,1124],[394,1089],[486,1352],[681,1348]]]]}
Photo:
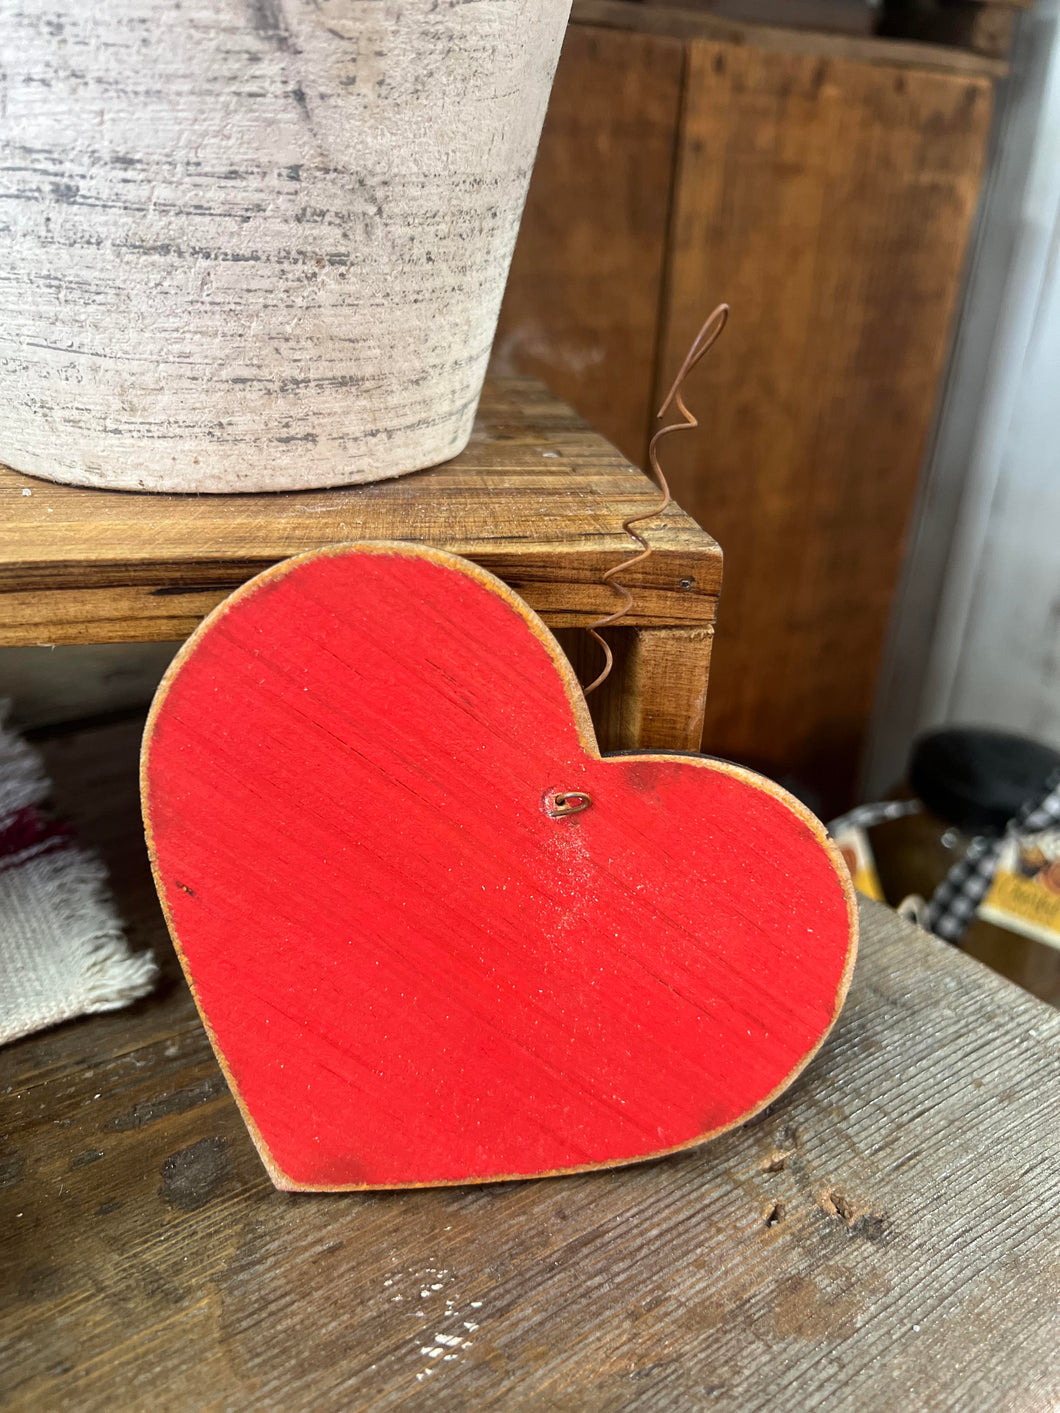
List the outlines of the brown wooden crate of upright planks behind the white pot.
{"type": "Polygon", "coordinates": [[[497,339],[722,544],[705,749],[851,797],[1003,65],[575,0],[497,339]]]}

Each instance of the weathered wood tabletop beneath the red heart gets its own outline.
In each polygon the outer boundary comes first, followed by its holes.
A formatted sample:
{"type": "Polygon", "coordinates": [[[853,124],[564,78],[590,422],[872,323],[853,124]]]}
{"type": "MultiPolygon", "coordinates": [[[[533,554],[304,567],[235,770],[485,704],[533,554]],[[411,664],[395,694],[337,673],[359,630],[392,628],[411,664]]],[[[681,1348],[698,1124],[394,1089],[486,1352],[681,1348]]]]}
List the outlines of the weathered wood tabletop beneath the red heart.
{"type": "Polygon", "coordinates": [[[137,743],[130,722],[47,745],[165,979],[0,1051],[7,1406],[1060,1405],[1060,1015],[865,904],[823,1053],[700,1152],[281,1194],[164,937],[137,743]]]}

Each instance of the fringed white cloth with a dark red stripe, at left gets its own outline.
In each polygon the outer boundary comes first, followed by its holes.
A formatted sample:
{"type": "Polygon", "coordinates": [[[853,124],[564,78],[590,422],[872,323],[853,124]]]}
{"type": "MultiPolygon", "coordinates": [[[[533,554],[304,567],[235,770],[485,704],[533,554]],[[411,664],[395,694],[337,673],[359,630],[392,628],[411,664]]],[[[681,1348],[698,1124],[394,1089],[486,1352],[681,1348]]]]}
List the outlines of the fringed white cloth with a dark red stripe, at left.
{"type": "Polygon", "coordinates": [[[49,784],[0,702],[0,1044],[144,996],[158,968],[133,955],[103,865],[40,808],[49,784]]]}

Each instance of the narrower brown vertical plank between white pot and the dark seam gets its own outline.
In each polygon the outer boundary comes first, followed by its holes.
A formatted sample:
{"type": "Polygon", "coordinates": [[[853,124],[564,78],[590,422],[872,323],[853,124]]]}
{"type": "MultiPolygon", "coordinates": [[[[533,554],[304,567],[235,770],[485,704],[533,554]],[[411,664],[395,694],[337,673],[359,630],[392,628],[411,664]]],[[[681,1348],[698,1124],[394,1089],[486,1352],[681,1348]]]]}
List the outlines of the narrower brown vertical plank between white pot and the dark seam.
{"type": "Polygon", "coordinates": [[[684,45],[571,25],[493,346],[647,465],[684,45]],[[606,239],[601,239],[606,232],[606,239]]]}

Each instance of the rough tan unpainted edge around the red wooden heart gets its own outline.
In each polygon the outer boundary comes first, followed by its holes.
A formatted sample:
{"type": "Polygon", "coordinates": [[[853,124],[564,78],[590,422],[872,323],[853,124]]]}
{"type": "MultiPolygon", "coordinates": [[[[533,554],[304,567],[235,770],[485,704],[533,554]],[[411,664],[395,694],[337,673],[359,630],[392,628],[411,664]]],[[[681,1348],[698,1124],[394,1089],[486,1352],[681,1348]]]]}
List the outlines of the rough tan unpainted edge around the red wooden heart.
{"type": "Polygon", "coordinates": [[[163,887],[163,879],[158,870],[158,861],[154,848],[154,831],[151,827],[150,810],[148,810],[147,787],[148,787],[148,773],[150,773],[150,747],[158,715],[165,704],[165,698],[170,692],[170,688],[172,687],[174,680],[181,671],[184,663],[195,651],[199,640],[208,632],[211,632],[211,629],[216,623],[219,623],[223,619],[223,616],[229,612],[229,609],[235,603],[237,603],[242,598],[254,593],[263,584],[283,578],[285,574],[290,574],[293,569],[297,569],[298,565],[301,564],[305,564],[311,560],[335,558],[338,555],[346,555],[346,554],[382,554],[382,555],[406,557],[413,560],[416,558],[430,560],[434,564],[440,564],[445,568],[449,568],[457,574],[464,574],[471,579],[476,579],[479,584],[483,585],[483,588],[496,593],[500,599],[503,599],[509,605],[509,608],[514,609],[514,612],[520,615],[526,626],[530,629],[534,637],[538,639],[538,642],[543,644],[543,647],[551,657],[553,666],[555,667],[560,681],[563,682],[564,691],[567,694],[567,699],[571,706],[571,715],[574,716],[574,723],[578,732],[578,738],[581,740],[585,753],[588,756],[595,757],[596,760],[609,759],[608,756],[603,756],[601,753],[596,745],[596,733],[592,725],[592,719],[589,716],[589,709],[585,702],[581,684],[578,682],[578,678],[574,673],[574,668],[567,661],[563,649],[553,637],[553,634],[548,632],[548,627],[546,626],[543,619],[538,617],[538,615],[534,613],[534,610],[527,603],[524,603],[523,599],[520,599],[516,593],[513,593],[513,591],[509,589],[509,586],[502,579],[497,579],[496,575],[490,574],[488,569],[482,569],[471,560],[462,560],[459,555],[451,554],[448,550],[434,550],[427,545],[410,545],[399,541],[362,540],[346,545],[332,545],[322,550],[312,550],[308,554],[294,555],[290,560],[284,560],[281,564],[273,565],[263,574],[256,575],[246,584],[242,584],[235,591],[235,593],[229,595],[229,598],[226,598],[223,603],[219,603],[213,609],[213,612],[209,613],[202,620],[202,623],[196,627],[196,630],[191,634],[191,637],[181,646],[179,651],[177,653],[172,663],[167,668],[165,675],[158,684],[157,692],[154,694],[154,699],[151,701],[151,708],[147,714],[147,721],[144,723],[144,735],[140,746],[140,804],[144,820],[147,853],[151,861],[151,875],[154,877],[155,890],[158,893],[158,901],[161,904],[163,916],[165,917],[165,926],[170,931],[170,937],[172,938],[172,945],[174,951],[177,952],[177,959],[181,964],[181,971],[184,972],[184,976],[188,982],[188,989],[191,991],[192,999],[195,1000],[195,1007],[199,1013],[199,1019],[202,1020],[204,1030],[206,1031],[206,1037],[209,1039],[209,1043],[213,1048],[213,1054],[220,1067],[220,1071],[225,1075],[225,1081],[228,1082],[228,1087],[232,1091],[232,1096],[236,1101],[236,1105],[239,1106],[239,1112],[243,1116],[243,1122],[247,1126],[247,1132],[250,1133],[254,1147],[257,1149],[259,1157],[261,1159],[266,1171],[273,1180],[273,1184],[277,1188],[280,1188],[280,1191],[288,1191],[288,1193],[372,1193],[372,1191],[404,1191],[404,1190],[425,1188],[425,1187],[479,1187],[486,1183],[520,1183],[520,1181],[531,1181],[541,1177],[567,1177],[574,1173],[608,1171],[616,1167],[630,1167],[635,1163],[650,1163],[660,1157],[669,1157],[673,1153],[681,1153],[685,1152],[687,1149],[700,1147],[701,1145],[708,1143],[711,1139],[719,1137],[722,1133],[728,1133],[731,1129],[741,1128],[756,1113],[760,1113],[762,1109],[773,1104],[773,1101],[777,1099],[779,1095],[782,1095],[784,1089],[787,1089],[789,1085],[791,1085],[799,1078],[799,1075],[803,1072],[803,1070],[806,1070],[806,1067],[811,1063],[814,1056],[818,1053],[818,1050],[827,1040],[832,1026],[835,1024],[840,1016],[840,1012],[842,1010],[842,1005],[847,999],[847,992],[849,991],[851,976],[854,975],[854,964],[858,955],[859,917],[858,917],[858,900],[854,892],[854,885],[851,882],[849,872],[842,861],[838,848],[828,836],[828,832],[821,824],[821,821],[814,814],[811,814],[810,810],[807,810],[807,807],[800,800],[789,794],[787,790],[776,784],[773,780],[767,780],[765,776],[758,776],[752,770],[746,770],[743,766],[736,766],[732,764],[731,762],[718,760],[709,756],[694,756],[694,755],[684,756],[678,753],[659,753],[659,752],[650,752],[650,753],[626,752],[622,753],[620,756],[623,762],[680,760],[683,764],[688,764],[695,769],[721,771],[722,774],[732,776],[734,779],[741,780],[748,786],[752,786],[755,790],[763,790],[766,794],[772,794],[775,800],[786,805],[786,808],[789,808],[791,814],[794,814],[799,820],[801,820],[803,824],[806,824],[807,828],[811,831],[811,834],[814,834],[818,844],[824,848],[825,853],[831,861],[832,872],[835,873],[840,886],[842,887],[844,897],[847,900],[849,938],[847,945],[847,961],[844,965],[842,976],[840,978],[840,985],[835,992],[835,1007],[832,1010],[831,1019],[828,1020],[828,1024],[821,1031],[817,1044],[813,1046],[813,1048],[803,1056],[803,1058],[794,1065],[794,1068],[787,1075],[784,1075],[780,1084],[770,1094],[767,1094],[759,1104],[753,1105],[745,1113],[741,1113],[738,1118],[732,1119],[732,1122],[724,1123],[717,1129],[711,1129],[708,1133],[701,1133],[694,1139],[688,1139],[688,1142],[685,1143],[677,1143],[673,1147],[659,1149],[652,1153],[640,1153],[636,1157],[618,1159],[615,1161],[608,1161],[608,1163],[582,1163],[578,1164],[577,1167],[553,1169],[544,1173],[493,1173],[489,1174],[488,1177],[447,1178],[444,1181],[434,1181],[434,1183],[307,1184],[294,1181],[278,1167],[278,1164],[273,1159],[273,1154],[267,1143],[264,1142],[261,1133],[259,1132],[253,1116],[250,1115],[249,1109],[246,1108],[246,1104],[243,1102],[243,1096],[239,1092],[239,1087],[236,1085],[232,1072],[229,1071],[220,1044],[218,1043],[218,1039],[213,1034],[209,1020],[206,1019],[206,1013],[199,1000],[198,991],[195,989],[195,982],[191,975],[191,969],[184,955],[184,948],[181,947],[181,940],[178,937],[177,927],[174,926],[172,917],[170,914],[165,890],[163,887]]]}

